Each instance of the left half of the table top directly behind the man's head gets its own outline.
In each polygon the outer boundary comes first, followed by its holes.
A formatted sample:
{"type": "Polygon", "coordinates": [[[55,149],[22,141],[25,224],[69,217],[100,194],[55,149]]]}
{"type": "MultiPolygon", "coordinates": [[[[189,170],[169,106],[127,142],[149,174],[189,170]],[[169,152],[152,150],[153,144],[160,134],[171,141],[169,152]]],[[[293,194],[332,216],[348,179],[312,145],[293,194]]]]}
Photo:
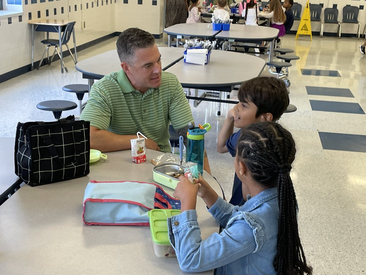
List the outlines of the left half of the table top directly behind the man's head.
{"type": "MultiPolygon", "coordinates": [[[[171,65],[176,60],[183,57],[184,49],[173,47],[158,47],[161,54],[161,67],[171,65]]],[[[121,69],[121,62],[116,49],[95,55],[79,61],[75,65],[76,70],[82,73],[88,73],[97,78],[102,78],[111,72],[118,72],[121,69]]]]}

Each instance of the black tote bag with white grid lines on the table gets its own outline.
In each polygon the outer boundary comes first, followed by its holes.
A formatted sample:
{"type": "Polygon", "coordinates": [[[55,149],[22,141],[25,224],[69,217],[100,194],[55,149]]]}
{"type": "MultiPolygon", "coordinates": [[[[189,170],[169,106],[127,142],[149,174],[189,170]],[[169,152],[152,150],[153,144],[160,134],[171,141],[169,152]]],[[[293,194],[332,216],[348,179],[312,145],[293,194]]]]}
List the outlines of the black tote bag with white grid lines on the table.
{"type": "Polygon", "coordinates": [[[90,122],[74,115],[55,122],[18,122],[15,174],[38,186],[89,174],[90,122]]]}

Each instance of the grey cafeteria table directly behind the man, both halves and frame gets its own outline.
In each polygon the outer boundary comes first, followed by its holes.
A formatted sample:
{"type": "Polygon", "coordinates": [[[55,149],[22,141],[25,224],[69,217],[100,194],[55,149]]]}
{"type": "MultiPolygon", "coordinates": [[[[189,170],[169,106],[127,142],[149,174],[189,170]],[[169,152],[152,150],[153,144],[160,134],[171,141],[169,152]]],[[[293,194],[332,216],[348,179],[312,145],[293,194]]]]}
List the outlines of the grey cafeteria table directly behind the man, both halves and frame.
{"type": "MultiPolygon", "coordinates": [[[[224,100],[224,94],[221,92],[231,92],[235,85],[240,85],[246,80],[259,76],[266,65],[265,60],[257,56],[218,50],[211,52],[210,62],[207,65],[195,65],[184,62],[182,59],[183,48],[158,48],[162,55],[162,67],[171,62],[169,58],[174,59],[180,56],[175,62],[165,67],[165,71],[175,74],[184,88],[195,89],[194,96],[187,95],[187,99],[194,99],[194,107],[197,107],[201,100],[236,103],[224,100]],[[168,51],[169,58],[165,58],[168,51]],[[163,61],[165,62],[164,64],[163,61]],[[234,70],[233,64],[238,67],[248,68],[249,70],[234,70]],[[203,93],[198,97],[198,89],[218,91],[220,95],[214,96],[220,97],[220,99],[207,98],[207,96],[212,96],[212,92],[203,93]]],[[[120,69],[120,66],[111,65],[113,62],[119,64],[118,59],[115,60],[116,52],[117,50],[112,50],[79,61],[75,65],[76,70],[82,72],[83,78],[87,78],[90,85],[94,79],[100,79],[102,76],[113,72],[113,70],[120,69]],[[115,51],[115,54],[113,54],[113,51],[115,51]]],[[[220,114],[220,104],[218,114],[220,114]]]]}

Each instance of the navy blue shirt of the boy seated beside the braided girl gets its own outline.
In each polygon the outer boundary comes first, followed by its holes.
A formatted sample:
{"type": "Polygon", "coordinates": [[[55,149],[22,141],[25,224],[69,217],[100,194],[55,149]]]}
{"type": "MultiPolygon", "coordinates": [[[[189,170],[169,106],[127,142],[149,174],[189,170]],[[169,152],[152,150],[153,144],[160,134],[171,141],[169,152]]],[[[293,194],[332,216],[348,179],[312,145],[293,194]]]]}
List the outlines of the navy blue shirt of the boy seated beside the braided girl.
{"type": "MultiPolygon", "coordinates": [[[[228,149],[229,153],[232,155],[232,157],[236,156],[236,145],[238,144],[238,139],[240,137],[241,131],[238,131],[236,133],[233,133],[225,142],[226,148],[228,149]]],[[[232,194],[231,199],[229,203],[233,205],[243,205],[244,199],[243,199],[243,188],[242,188],[242,181],[239,180],[238,176],[234,175],[234,184],[232,187],[232,194]]]]}

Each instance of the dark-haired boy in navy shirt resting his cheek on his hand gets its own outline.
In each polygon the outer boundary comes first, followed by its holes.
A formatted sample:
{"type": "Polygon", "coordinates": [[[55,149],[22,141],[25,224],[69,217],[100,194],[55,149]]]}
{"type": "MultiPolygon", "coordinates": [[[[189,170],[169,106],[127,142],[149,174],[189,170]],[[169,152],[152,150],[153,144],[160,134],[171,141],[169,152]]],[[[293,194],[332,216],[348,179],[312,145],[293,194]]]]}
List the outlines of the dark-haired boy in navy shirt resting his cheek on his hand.
{"type": "MultiPolygon", "coordinates": [[[[234,133],[234,126],[244,129],[255,122],[276,121],[289,103],[284,82],[273,77],[255,77],[244,82],[239,88],[238,99],[239,103],[228,112],[217,137],[217,151],[229,152],[233,157],[240,136],[240,131],[234,133]]],[[[242,190],[242,182],[235,174],[230,203],[243,205],[247,192],[242,190]]]]}

